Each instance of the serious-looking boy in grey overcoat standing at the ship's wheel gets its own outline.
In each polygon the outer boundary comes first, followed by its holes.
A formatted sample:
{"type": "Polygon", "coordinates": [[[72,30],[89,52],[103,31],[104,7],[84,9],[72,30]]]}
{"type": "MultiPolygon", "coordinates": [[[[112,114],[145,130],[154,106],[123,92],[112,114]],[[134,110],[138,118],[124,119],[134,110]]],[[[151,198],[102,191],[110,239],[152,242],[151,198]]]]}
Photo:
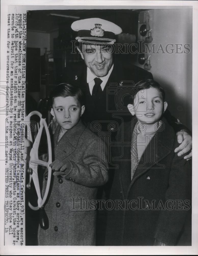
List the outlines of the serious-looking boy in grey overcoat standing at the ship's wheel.
{"type": "MultiPolygon", "coordinates": [[[[80,88],[59,84],[50,95],[58,127],[54,134],[51,192],[45,206],[49,228],[39,228],[39,245],[95,245],[97,187],[108,180],[108,164],[99,155],[98,137],[84,126],[80,88]]],[[[46,186],[44,179],[43,187],[46,186]]]]}

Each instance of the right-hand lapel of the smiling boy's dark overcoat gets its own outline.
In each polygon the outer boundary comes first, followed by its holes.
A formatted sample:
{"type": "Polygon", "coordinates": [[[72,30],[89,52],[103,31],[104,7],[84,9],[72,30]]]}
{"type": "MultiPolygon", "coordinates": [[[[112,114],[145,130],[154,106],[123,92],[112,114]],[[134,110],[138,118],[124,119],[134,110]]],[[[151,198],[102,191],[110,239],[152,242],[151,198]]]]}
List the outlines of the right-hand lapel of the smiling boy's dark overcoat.
{"type": "Polygon", "coordinates": [[[173,128],[167,123],[166,119],[162,119],[162,129],[158,130],[149,142],[146,150],[142,155],[142,160],[139,162],[134,177],[130,182],[131,187],[134,182],[151,168],[164,169],[165,166],[159,164],[173,150],[175,133],[173,128]],[[164,129],[163,129],[164,127],[164,129]],[[168,142],[168,143],[167,143],[168,142]]]}

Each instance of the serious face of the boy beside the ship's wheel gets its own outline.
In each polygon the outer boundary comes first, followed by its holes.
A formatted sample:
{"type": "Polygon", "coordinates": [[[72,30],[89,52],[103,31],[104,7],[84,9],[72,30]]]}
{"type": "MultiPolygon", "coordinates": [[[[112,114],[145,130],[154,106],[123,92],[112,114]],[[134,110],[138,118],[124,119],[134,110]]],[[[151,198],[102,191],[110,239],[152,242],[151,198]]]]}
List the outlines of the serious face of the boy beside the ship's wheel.
{"type": "Polygon", "coordinates": [[[85,106],[81,106],[80,102],[72,96],[54,98],[52,108],[52,115],[65,130],[74,127],[85,110],[85,106]]]}

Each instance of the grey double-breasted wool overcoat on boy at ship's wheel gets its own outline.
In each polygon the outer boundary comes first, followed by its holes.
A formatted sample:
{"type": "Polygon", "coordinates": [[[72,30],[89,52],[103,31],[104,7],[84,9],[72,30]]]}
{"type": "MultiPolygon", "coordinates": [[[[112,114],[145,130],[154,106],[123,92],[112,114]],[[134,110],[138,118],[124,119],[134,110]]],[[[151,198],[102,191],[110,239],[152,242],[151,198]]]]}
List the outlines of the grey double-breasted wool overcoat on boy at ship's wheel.
{"type": "MultiPolygon", "coordinates": [[[[96,210],[89,206],[90,200],[96,199],[98,186],[108,180],[108,163],[105,158],[100,161],[98,137],[81,121],[57,143],[59,130],[60,126],[54,134],[55,159],[70,164],[65,178],[52,175],[51,193],[45,206],[49,228],[39,227],[38,242],[39,245],[95,245],[96,210]]],[[[46,183],[44,180],[44,189],[46,183]]]]}

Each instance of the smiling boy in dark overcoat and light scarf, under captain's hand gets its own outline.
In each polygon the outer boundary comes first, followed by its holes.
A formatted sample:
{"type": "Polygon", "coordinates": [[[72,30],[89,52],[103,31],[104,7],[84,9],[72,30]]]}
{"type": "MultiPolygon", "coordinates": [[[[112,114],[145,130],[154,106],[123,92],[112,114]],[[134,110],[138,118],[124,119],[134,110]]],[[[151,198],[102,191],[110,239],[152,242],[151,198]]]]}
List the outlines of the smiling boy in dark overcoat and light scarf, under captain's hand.
{"type": "Polygon", "coordinates": [[[190,209],[190,161],[174,153],[173,128],[163,118],[165,93],[151,79],[134,87],[132,121],[119,127],[105,245],[173,246],[190,209]]]}

